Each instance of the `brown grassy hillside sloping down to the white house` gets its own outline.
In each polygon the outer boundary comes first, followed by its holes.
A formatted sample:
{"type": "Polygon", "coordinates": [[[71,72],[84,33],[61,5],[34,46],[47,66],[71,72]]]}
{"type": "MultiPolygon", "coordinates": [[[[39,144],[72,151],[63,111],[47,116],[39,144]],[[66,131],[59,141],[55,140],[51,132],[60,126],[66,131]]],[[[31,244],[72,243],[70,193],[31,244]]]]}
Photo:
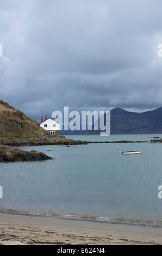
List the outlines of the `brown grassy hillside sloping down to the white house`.
{"type": "Polygon", "coordinates": [[[46,131],[21,111],[0,100],[0,136],[43,136],[46,131]]]}

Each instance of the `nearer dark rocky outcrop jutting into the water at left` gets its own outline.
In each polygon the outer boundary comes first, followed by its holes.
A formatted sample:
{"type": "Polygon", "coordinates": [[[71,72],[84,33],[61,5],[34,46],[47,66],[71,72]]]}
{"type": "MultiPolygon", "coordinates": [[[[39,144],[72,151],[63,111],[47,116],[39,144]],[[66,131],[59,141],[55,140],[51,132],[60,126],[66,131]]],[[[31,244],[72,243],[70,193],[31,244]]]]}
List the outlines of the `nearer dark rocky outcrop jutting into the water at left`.
{"type": "Polygon", "coordinates": [[[42,161],[49,159],[52,158],[39,151],[24,151],[11,148],[8,145],[0,145],[0,162],[42,161]]]}

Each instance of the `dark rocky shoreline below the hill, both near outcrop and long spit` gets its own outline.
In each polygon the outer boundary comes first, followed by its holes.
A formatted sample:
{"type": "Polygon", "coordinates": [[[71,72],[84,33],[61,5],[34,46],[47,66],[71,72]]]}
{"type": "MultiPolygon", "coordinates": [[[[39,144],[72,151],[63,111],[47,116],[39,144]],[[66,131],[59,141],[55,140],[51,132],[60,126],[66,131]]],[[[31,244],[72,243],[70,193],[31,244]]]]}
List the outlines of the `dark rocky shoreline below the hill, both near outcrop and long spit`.
{"type": "Polygon", "coordinates": [[[51,157],[40,151],[24,151],[10,146],[39,146],[39,145],[86,145],[94,143],[146,143],[148,141],[73,141],[67,138],[0,138],[0,162],[41,161],[51,157]]]}

